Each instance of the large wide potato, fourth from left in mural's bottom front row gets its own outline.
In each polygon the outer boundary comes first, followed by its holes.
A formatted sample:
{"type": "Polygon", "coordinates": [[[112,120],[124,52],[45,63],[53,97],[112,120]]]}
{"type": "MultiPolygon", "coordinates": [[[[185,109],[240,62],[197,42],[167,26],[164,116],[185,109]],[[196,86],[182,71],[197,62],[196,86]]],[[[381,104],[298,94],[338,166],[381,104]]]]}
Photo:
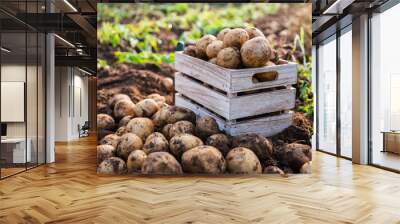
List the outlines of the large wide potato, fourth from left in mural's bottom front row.
{"type": "Polygon", "coordinates": [[[221,152],[212,146],[197,146],[182,154],[182,167],[188,173],[222,174],[226,163],[221,152]]]}

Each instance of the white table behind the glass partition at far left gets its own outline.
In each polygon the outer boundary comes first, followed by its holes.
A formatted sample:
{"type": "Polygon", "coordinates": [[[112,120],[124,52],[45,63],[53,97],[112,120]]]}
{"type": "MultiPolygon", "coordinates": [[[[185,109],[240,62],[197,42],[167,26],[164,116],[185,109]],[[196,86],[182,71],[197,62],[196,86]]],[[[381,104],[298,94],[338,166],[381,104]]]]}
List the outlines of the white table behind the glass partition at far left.
{"type": "Polygon", "coordinates": [[[26,142],[28,143],[28,147],[26,147],[25,154],[25,138],[5,138],[1,139],[1,148],[4,147],[13,147],[13,159],[12,163],[25,163],[31,162],[32,154],[31,154],[31,145],[32,141],[30,138],[27,138],[26,142]]]}

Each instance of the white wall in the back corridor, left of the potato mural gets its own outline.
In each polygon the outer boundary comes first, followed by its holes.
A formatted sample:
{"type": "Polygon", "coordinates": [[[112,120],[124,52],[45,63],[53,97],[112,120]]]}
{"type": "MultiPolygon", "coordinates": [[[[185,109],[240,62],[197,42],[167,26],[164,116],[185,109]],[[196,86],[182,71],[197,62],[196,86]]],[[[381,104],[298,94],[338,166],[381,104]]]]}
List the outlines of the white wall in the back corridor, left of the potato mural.
{"type": "Polygon", "coordinates": [[[55,140],[70,141],[88,120],[88,78],[72,67],[56,67],[55,73],[55,140]]]}

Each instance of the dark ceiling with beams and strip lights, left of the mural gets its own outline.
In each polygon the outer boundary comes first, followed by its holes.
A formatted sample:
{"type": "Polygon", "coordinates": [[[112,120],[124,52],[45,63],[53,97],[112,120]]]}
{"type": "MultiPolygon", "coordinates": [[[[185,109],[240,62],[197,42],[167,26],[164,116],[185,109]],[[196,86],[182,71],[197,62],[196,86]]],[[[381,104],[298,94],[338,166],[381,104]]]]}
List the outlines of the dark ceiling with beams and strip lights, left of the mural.
{"type": "Polygon", "coordinates": [[[29,32],[35,36],[50,32],[57,34],[56,65],[79,66],[95,73],[96,4],[96,0],[0,0],[2,46],[12,50],[7,56],[31,58],[37,44],[36,39],[30,43],[33,35],[29,32]],[[27,40],[21,35],[25,32],[27,40]]]}

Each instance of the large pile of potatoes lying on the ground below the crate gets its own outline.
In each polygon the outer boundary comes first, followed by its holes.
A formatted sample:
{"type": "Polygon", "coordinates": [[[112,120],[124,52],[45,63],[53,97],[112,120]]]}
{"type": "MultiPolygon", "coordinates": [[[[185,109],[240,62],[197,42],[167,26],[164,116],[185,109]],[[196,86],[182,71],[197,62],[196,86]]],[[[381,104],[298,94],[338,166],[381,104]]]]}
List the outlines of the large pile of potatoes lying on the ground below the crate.
{"type": "Polygon", "coordinates": [[[251,134],[231,137],[212,117],[197,118],[151,94],[133,103],[116,94],[112,115],[98,114],[98,173],[102,174],[260,174],[309,173],[310,147],[251,134]]]}

